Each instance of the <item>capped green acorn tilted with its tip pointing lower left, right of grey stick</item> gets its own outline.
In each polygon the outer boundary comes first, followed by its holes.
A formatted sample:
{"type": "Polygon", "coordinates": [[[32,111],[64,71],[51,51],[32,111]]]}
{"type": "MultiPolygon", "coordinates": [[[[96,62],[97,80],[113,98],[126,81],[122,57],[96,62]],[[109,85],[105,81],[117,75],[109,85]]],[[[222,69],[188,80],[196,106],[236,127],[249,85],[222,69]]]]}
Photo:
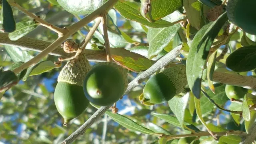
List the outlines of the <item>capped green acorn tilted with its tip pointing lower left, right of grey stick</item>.
{"type": "Polygon", "coordinates": [[[180,94],[186,85],[186,66],[176,65],[152,76],[143,89],[142,103],[162,104],[180,94]]]}

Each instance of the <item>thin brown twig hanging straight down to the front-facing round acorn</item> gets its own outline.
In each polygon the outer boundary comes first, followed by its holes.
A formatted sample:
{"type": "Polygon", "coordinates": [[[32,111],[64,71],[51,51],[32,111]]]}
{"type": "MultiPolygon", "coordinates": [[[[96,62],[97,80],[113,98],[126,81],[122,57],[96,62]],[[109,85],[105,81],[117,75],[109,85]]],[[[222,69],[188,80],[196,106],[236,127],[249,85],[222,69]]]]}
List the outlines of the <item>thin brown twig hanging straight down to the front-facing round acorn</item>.
{"type": "Polygon", "coordinates": [[[103,26],[103,34],[105,40],[105,49],[107,54],[107,61],[112,62],[112,56],[110,53],[110,44],[108,40],[108,25],[107,25],[107,17],[106,13],[102,14],[102,26],[103,26]]]}

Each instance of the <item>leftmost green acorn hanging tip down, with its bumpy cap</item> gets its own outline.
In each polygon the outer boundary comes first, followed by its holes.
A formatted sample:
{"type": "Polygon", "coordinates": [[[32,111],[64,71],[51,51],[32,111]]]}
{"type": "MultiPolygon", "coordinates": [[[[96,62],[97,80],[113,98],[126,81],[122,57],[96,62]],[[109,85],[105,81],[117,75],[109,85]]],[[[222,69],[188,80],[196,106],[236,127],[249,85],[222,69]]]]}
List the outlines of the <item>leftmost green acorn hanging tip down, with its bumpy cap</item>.
{"type": "Polygon", "coordinates": [[[54,102],[60,115],[64,118],[64,126],[82,114],[89,101],[84,95],[83,80],[90,71],[90,64],[85,53],[68,61],[60,71],[54,92],[54,102]]]}

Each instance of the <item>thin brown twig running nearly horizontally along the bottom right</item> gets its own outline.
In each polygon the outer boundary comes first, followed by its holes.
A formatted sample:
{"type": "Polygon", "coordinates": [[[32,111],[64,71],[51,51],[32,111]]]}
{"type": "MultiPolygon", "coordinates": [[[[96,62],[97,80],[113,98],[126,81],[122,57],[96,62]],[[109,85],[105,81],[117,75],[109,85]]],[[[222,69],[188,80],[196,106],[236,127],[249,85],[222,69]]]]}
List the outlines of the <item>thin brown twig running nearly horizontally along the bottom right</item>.
{"type": "MultiPolygon", "coordinates": [[[[230,136],[230,135],[236,135],[236,136],[248,136],[246,132],[242,132],[239,130],[230,130],[230,131],[225,131],[225,132],[212,132],[214,136],[230,136]]],[[[194,137],[194,136],[211,136],[209,132],[197,132],[194,134],[174,134],[174,135],[169,135],[169,136],[162,136],[165,137],[167,140],[173,140],[173,139],[178,139],[178,138],[187,138],[187,137],[194,137]]]]}

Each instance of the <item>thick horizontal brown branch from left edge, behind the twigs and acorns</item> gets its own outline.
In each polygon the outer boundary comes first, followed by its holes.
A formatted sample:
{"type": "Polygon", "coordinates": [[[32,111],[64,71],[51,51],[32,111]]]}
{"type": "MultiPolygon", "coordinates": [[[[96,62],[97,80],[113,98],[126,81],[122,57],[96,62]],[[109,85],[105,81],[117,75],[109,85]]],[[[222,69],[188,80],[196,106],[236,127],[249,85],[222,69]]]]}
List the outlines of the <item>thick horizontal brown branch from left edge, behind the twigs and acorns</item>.
{"type": "MultiPolygon", "coordinates": [[[[9,39],[8,34],[6,33],[0,33],[0,44],[8,45],[8,46],[15,46],[26,50],[33,50],[36,52],[42,52],[46,47],[48,47],[51,43],[46,42],[43,40],[36,40],[33,38],[28,38],[26,36],[16,40],[12,41],[9,39]]],[[[131,57],[131,58],[145,58],[144,56],[141,56],[140,54],[136,54],[133,52],[130,52],[124,48],[110,48],[111,53],[116,56],[122,56],[122,57],[131,57]]],[[[106,52],[105,50],[89,50],[85,49],[86,58],[89,61],[95,61],[95,62],[106,62],[106,52]]],[[[49,53],[50,55],[54,56],[60,56],[60,57],[72,57],[75,54],[68,54],[64,52],[64,50],[58,46],[56,49],[54,49],[52,52],[49,53]]]]}

